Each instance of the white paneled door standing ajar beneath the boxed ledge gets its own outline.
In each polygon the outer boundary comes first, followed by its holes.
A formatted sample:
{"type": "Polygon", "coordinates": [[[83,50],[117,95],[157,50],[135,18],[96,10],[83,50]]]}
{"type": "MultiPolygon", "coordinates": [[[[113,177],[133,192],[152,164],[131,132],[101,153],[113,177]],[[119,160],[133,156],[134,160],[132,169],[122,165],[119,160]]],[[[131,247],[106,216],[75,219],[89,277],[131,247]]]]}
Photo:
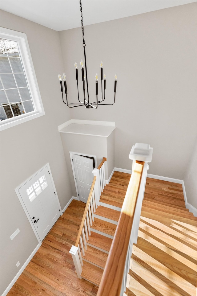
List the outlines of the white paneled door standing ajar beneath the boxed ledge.
{"type": "Polygon", "coordinates": [[[79,200],[87,202],[94,175],[93,160],[85,156],[72,154],[79,200]]]}

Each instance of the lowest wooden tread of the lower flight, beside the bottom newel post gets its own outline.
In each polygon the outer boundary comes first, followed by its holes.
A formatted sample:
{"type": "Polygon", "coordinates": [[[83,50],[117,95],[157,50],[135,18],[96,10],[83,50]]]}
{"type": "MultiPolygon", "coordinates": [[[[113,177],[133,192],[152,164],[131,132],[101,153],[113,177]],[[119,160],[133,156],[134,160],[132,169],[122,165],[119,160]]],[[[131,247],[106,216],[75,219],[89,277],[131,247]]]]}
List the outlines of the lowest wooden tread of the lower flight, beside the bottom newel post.
{"type": "Polygon", "coordinates": [[[94,266],[86,261],[83,261],[82,267],[82,278],[85,278],[87,281],[93,283],[94,285],[99,286],[101,278],[103,275],[103,269],[94,266]]]}

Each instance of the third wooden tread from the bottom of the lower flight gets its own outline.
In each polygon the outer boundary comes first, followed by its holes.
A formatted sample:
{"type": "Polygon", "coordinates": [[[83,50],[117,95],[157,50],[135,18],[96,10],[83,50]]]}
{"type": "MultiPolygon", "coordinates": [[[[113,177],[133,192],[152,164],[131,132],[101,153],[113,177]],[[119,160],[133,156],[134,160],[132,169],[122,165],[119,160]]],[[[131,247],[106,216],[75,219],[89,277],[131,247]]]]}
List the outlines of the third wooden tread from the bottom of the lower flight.
{"type": "Polygon", "coordinates": [[[89,236],[89,241],[87,241],[87,244],[94,245],[97,248],[103,249],[107,252],[109,252],[111,247],[112,239],[104,236],[102,234],[96,233],[94,231],[91,231],[91,235],[89,236]]]}

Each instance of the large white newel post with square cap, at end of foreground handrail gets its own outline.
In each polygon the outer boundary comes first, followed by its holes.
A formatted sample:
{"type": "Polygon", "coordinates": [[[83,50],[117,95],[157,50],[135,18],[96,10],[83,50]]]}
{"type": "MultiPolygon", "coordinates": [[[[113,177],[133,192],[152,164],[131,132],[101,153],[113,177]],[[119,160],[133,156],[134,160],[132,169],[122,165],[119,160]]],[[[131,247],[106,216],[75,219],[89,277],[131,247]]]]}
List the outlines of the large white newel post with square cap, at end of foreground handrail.
{"type": "Polygon", "coordinates": [[[144,191],[145,191],[145,185],[146,185],[146,179],[147,179],[147,170],[149,168],[148,162],[152,161],[152,154],[153,154],[153,148],[151,148],[149,144],[143,144],[143,143],[135,143],[135,145],[132,147],[131,152],[129,154],[129,158],[133,160],[132,170],[134,168],[134,164],[136,160],[144,161],[143,174],[142,174],[141,185],[139,189],[138,200],[137,200],[135,216],[134,216],[133,243],[135,244],[137,243],[137,239],[138,239],[139,220],[141,215],[142,202],[144,198],[144,191]]]}

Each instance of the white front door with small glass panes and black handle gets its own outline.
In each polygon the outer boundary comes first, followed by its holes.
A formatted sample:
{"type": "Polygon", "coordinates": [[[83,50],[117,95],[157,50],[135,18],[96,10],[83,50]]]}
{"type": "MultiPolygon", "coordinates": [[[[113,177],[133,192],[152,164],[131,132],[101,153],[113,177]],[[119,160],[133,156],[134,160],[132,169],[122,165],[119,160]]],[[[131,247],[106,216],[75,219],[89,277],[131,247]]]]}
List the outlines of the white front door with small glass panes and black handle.
{"type": "Polygon", "coordinates": [[[60,205],[56,198],[48,168],[43,168],[18,189],[31,221],[41,241],[60,216],[60,205]]]}

